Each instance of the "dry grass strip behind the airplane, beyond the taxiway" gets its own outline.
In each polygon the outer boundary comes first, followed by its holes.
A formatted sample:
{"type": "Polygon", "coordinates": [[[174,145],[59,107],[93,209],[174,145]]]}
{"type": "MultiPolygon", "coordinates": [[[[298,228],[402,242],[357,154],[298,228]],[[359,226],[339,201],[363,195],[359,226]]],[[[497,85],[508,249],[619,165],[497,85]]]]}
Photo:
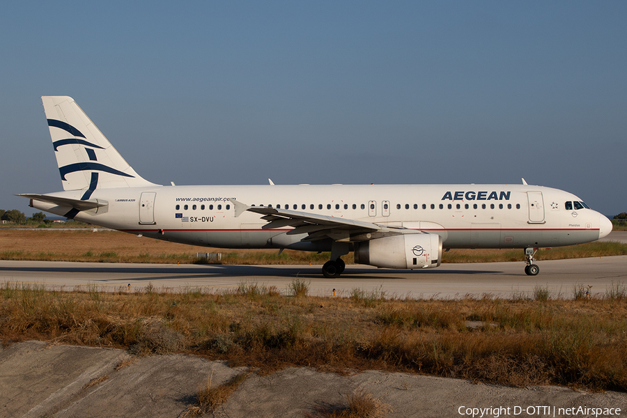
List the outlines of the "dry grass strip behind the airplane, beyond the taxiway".
{"type": "MultiPolygon", "coordinates": [[[[39,261],[91,261],[104,263],[195,263],[197,252],[222,253],[222,264],[323,264],[329,253],[309,253],[274,249],[219,249],[196,247],[137,237],[118,231],[67,231],[63,229],[0,229],[0,259],[39,261]]],[[[627,255],[627,245],[617,242],[591,242],[571,247],[541,249],[538,258],[563,258],[627,255]]],[[[343,257],[347,264],[353,256],[343,257]]],[[[488,263],[523,261],[520,249],[451,249],[443,263],[488,263]]]]}

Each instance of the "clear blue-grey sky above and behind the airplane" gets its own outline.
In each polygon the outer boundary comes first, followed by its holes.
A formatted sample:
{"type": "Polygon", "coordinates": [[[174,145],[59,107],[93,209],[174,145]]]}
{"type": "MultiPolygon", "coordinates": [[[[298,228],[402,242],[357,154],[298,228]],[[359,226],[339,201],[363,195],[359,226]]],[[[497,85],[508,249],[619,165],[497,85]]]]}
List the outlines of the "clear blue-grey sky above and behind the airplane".
{"type": "Polygon", "coordinates": [[[0,208],[61,189],[41,95],[155,183],[520,183],[627,211],[624,1],[10,2],[0,208]],[[93,4],[92,4],[93,3],[93,4]]]}

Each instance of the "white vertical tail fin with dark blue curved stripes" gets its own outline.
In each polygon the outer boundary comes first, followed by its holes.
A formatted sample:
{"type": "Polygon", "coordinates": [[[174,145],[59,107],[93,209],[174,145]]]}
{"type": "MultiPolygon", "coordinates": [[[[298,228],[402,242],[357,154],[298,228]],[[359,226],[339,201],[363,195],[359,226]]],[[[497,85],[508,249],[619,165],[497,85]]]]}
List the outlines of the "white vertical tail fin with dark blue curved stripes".
{"type": "Polygon", "coordinates": [[[141,178],[68,96],[41,98],[64,190],[155,185],[141,178]]]}

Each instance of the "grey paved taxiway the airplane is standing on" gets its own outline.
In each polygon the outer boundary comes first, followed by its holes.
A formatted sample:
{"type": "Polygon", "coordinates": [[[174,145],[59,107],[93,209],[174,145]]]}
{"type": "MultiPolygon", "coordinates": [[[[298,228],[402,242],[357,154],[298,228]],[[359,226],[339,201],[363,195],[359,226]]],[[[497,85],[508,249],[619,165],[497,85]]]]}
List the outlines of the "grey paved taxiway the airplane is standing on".
{"type": "Polygon", "coordinates": [[[451,299],[472,295],[511,297],[534,288],[571,298],[575,286],[592,286],[603,294],[610,286],[627,285],[627,256],[538,261],[540,274],[523,272],[525,263],[443,264],[429,270],[387,270],[348,265],[338,279],[325,279],[320,265],[163,265],[126,263],[69,263],[52,261],[0,261],[0,279],[17,284],[44,284],[72,291],[75,286],[97,286],[103,291],[155,288],[185,291],[206,288],[224,291],[242,283],[276,286],[289,294],[293,279],[309,283],[309,295],[348,296],[354,289],[386,297],[451,299]]]}

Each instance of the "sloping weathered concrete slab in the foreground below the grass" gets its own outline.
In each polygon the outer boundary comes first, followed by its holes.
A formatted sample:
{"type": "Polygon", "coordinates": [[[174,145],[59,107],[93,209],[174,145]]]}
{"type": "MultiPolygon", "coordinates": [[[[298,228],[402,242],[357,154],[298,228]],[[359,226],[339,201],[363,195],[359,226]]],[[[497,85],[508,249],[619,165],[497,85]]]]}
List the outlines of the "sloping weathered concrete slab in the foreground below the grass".
{"type": "MultiPolygon", "coordinates": [[[[0,352],[1,417],[179,417],[212,376],[219,385],[245,369],[187,355],[144,357],[116,370],[123,350],[48,346],[26,341],[0,352]],[[106,380],[86,387],[94,378],[106,380]]],[[[589,394],[563,387],[512,388],[408,373],[366,371],[352,376],[288,368],[251,373],[214,417],[303,417],[318,407],[346,405],[363,390],[390,407],[387,417],[455,417],[467,408],[510,408],[500,417],[594,416],[559,414],[559,408],[621,408],[627,395],[589,394]],[[514,408],[519,408],[518,413],[514,408]],[[540,410],[539,408],[543,408],[540,410]],[[548,408],[548,409],[547,409],[548,408]]],[[[479,415],[477,415],[479,416],[479,415]]],[[[484,416],[495,417],[495,412],[484,416]]]]}

